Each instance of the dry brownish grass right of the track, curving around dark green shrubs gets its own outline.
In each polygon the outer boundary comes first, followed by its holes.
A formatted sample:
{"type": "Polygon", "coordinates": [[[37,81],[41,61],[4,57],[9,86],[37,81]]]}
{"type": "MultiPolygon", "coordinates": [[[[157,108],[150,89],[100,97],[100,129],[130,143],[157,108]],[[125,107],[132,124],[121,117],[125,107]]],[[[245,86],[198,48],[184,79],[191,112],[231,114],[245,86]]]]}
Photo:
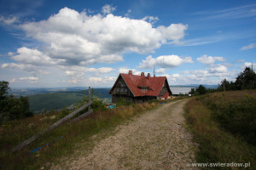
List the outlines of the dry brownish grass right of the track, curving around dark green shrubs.
{"type": "MultiPolygon", "coordinates": [[[[248,144],[241,135],[225,130],[218,119],[215,118],[219,107],[229,108],[228,105],[230,104],[234,105],[246,100],[247,95],[256,99],[256,91],[247,90],[208,94],[189,100],[185,106],[185,117],[189,129],[195,134],[195,142],[200,144],[197,153],[198,162],[250,162],[251,167],[247,169],[256,168],[256,147],[248,144]],[[217,109],[210,109],[212,107],[209,108],[209,105],[214,105],[214,108],[217,109]]],[[[216,169],[240,168],[216,167],[216,169]]]]}

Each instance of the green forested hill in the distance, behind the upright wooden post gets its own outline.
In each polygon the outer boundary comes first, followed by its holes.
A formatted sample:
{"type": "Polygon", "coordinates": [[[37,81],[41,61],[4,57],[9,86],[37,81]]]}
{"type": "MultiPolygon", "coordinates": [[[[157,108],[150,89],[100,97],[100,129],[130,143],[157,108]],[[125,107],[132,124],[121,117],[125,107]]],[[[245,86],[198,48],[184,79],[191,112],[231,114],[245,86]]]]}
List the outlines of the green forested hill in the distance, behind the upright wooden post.
{"type": "MultiPolygon", "coordinates": [[[[102,99],[110,99],[111,95],[108,94],[110,88],[94,88],[94,95],[102,99]]],[[[88,95],[88,90],[85,90],[88,95]]],[[[49,111],[55,109],[65,108],[73,105],[78,101],[84,99],[84,90],[69,91],[69,92],[55,92],[47,94],[36,94],[27,96],[30,102],[30,110],[35,111],[49,111]]]]}

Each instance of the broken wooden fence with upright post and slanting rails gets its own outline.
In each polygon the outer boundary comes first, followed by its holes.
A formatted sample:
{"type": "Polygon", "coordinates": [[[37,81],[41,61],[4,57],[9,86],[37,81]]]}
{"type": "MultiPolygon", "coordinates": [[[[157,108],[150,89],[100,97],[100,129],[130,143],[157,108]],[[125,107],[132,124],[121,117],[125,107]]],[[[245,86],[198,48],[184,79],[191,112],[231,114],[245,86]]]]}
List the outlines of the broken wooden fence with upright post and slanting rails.
{"type": "Polygon", "coordinates": [[[16,150],[20,150],[22,149],[24,146],[26,146],[27,144],[32,143],[32,141],[34,141],[35,139],[38,139],[40,136],[42,136],[44,133],[54,129],[55,127],[58,127],[62,122],[66,122],[67,120],[69,120],[71,117],[75,116],[77,113],[79,113],[79,111],[83,111],[86,107],[88,107],[88,111],[86,111],[85,113],[83,113],[82,115],[74,118],[73,120],[71,120],[71,122],[77,122],[79,120],[81,120],[82,118],[84,118],[85,116],[88,116],[92,113],[92,110],[90,109],[90,105],[92,104],[92,101],[90,100],[90,87],[89,87],[89,95],[88,95],[89,99],[88,99],[88,103],[86,103],[85,105],[83,105],[82,107],[80,107],[78,110],[73,111],[72,113],[70,113],[69,115],[63,117],[61,120],[59,120],[58,122],[55,122],[54,124],[52,124],[51,126],[45,128],[42,132],[32,136],[30,139],[26,139],[24,142],[22,142],[21,144],[18,144],[15,146],[15,148],[13,148],[11,151],[15,152],[16,150]]]}

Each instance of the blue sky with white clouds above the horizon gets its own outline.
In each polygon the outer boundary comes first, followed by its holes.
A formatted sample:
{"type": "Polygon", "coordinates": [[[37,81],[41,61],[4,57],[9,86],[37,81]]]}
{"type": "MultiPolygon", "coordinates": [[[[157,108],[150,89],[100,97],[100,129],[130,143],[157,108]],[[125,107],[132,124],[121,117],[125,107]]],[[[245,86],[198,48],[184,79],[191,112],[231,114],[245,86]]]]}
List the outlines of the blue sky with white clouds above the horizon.
{"type": "Polygon", "coordinates": [[[0,37],[11,88],[111,87],[129,70],[217,85],[256,68],[256,1],[0,0],[0,37]]]}

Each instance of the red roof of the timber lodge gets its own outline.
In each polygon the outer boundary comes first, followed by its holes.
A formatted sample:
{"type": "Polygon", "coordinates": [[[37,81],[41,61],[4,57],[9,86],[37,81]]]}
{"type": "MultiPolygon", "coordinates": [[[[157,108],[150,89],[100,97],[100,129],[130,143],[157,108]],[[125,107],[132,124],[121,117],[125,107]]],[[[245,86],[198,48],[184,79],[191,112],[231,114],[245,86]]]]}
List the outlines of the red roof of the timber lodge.
{"type": "MultiPolygon", "coordinates": [[[[119,77],[122,77],[124,79],[126,85],[131,90],[131,93],[134,95],[134,97],[159,96],[160,91],[163,87],[163,84],[166,81],[166,77],[144,77],[144,76],[137,76],[132,74],[124,74],[124,73],[120,73],[119,77]],[[147,91],[143,92],[142,88],[147,88],[147,91]]],[[[168,82],[167,82],[167,86],[169,87],[168,82]]],[[[113,88],[110,90],[109,93],[111,93],[112,90],[113,88]]],[[[169,90],[172,93],[170,88],[169,90]]]]}

